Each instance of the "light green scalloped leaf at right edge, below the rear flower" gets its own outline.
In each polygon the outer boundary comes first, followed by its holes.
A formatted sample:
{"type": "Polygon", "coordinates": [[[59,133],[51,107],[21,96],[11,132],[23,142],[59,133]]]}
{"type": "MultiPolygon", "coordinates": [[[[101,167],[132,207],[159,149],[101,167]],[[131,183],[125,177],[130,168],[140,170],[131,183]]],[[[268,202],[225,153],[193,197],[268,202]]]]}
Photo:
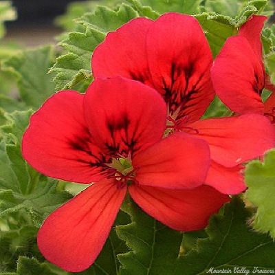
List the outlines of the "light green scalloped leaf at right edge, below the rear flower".
{"type": "Polygon", "coordinates": [[[264,161],[250,162],[245,169],[248,185],[248,200],[257,207],[253,217],[253,227],[260,232],[268,232],[275,238],[275,150],[264,157],[264,161]]]}

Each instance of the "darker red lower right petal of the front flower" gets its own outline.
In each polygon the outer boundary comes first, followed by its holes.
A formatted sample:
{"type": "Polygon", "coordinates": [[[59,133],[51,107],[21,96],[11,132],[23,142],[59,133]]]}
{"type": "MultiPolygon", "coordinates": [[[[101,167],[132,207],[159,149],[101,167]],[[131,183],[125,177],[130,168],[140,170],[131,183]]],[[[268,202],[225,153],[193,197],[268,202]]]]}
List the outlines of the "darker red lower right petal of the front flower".
{"type": "Polygon", "coordinates": [[[170,228],[181,231],[206,227],[210,215],[230,200],[210,186],[169,190],[131,185],[129,192],[142,210],[170,228]]]}

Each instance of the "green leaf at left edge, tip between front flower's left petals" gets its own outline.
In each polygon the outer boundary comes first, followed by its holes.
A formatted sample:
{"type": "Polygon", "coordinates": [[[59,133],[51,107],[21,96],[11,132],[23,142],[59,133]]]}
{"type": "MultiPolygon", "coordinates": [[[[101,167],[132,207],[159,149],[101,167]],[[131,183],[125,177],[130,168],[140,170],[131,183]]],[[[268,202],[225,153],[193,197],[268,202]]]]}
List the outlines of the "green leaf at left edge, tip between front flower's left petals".
{"type": "Polygon", "coordinates": [[[21,137],[31,111],[5,114],[6,124],[1,126],[0,143],[0,217],[20,210],[28,210],[33,223],[39,226],[43,219],[72,195],[57,191],[57,181],[36,172],[21,155],[21,137]]]}

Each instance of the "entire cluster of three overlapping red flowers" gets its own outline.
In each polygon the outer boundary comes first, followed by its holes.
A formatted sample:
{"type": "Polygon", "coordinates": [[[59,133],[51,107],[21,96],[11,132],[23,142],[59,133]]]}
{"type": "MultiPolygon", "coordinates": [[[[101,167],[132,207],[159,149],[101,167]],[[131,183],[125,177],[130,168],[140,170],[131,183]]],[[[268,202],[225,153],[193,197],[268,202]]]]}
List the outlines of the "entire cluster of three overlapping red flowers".
{"type": "Polygon", "coordinates": [[[274,94],[260,97],[273,89],[264,20],[252,17],[213,62],[194,17],[133,19],[94,51],[85,94],[59,91],[32,115],[23,157],[47,176],[91,184],[39,230],[48,261],[69,272],[94,263],[126,194],[154,219],[190,231],[245,190],[245,162],[275,145],[274,94]],[[215,92],[236,113],[203,120],[215,92]]]}

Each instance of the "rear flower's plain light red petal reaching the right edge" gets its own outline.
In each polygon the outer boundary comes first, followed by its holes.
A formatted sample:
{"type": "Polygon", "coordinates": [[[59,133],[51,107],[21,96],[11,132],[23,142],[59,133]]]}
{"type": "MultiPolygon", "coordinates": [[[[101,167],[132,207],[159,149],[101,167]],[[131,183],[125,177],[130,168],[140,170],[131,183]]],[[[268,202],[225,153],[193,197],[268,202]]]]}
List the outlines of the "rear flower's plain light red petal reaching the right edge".
{"type": "Polygon", "coordinates": [[[190,133],[208,142],[211,159],[226,167],[259,157],[275,145],[274,128],[263,115],[199,120],[188,126],[197,129],[190,133]]]}

